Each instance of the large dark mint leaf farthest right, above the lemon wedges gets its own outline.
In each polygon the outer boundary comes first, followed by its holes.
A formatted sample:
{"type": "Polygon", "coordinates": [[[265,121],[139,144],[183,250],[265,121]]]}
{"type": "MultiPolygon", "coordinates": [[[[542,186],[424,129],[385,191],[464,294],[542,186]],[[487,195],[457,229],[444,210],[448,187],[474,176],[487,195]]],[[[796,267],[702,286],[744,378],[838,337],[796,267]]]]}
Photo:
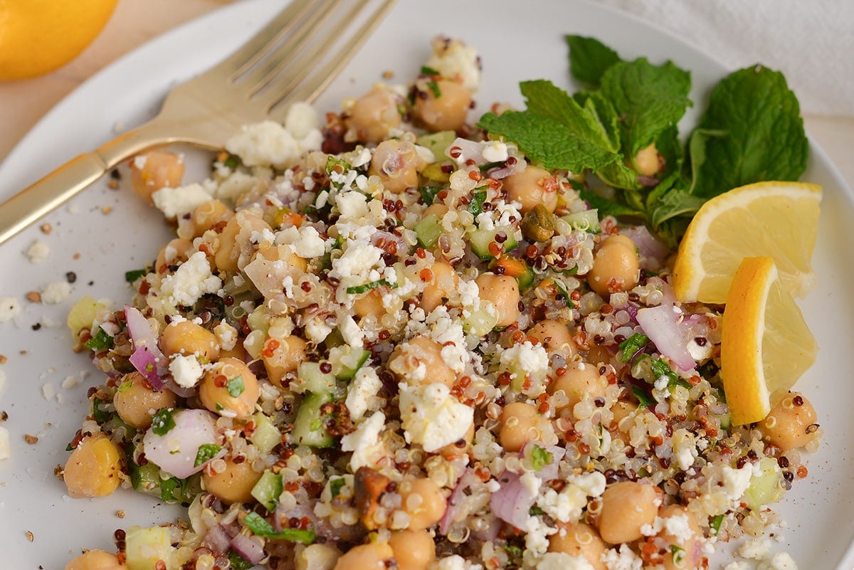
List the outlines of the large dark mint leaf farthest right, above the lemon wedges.
{"type": "Polygon", "coordinates": [[[704,160],[693,166],[694,195],[708,199],[762,180],[797,180],[806,169],[809,141],[798,98],[782,73],[768,67],[722,79],[698,126],[726,136],[705,139],[704,160]]]}

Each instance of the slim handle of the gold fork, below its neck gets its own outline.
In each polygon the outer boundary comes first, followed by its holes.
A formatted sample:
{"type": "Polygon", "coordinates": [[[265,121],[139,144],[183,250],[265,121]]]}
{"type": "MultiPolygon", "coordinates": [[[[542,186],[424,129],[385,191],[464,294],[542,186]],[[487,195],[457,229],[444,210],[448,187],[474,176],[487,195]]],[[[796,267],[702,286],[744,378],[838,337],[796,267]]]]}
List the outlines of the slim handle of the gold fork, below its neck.
{"type": "Polygon", "coordinates": [[[80,154],[0,204],[0,244],[70,200],[109,167],[97,152],[80,154]]]}

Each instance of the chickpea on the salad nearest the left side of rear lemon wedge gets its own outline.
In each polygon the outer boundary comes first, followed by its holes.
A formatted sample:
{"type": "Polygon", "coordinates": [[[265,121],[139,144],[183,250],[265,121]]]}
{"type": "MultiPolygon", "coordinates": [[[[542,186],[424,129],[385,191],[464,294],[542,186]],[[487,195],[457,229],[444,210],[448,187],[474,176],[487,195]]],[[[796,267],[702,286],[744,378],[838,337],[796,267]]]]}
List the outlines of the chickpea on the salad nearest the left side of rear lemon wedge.
{"type": "Polygon", "coordinates": [[[638,284],[640,260],[635,242],[616,234],[602,241],[587,276],[588,285],[603,299],[638,284]]]}

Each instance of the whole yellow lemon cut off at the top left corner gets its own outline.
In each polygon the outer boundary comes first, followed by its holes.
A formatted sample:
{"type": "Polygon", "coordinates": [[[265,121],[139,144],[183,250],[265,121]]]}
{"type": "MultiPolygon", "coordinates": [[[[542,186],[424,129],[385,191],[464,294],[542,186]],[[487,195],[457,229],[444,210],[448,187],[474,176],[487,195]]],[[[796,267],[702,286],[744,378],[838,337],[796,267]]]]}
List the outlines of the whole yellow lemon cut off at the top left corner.
{"type": "Polygon", "coordinates": [[[119,0],[0,0],[0,80],[43,75],[73,60],[119,0]]]}

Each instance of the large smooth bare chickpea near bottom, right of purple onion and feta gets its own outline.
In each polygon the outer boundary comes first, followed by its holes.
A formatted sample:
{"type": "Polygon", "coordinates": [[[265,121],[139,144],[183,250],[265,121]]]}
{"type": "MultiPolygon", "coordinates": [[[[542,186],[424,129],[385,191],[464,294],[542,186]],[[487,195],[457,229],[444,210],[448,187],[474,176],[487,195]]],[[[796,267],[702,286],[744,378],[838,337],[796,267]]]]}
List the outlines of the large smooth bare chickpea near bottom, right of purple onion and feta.
{"type": "Polygon", "coordinates": [[[600,536],[606,543],[630,543],[643,537],[640,527],[651,525],[658,514],[655,487],[635,481],[620,481],[602,493],[600,536]]]}

